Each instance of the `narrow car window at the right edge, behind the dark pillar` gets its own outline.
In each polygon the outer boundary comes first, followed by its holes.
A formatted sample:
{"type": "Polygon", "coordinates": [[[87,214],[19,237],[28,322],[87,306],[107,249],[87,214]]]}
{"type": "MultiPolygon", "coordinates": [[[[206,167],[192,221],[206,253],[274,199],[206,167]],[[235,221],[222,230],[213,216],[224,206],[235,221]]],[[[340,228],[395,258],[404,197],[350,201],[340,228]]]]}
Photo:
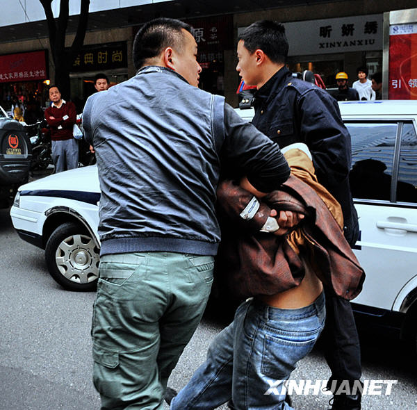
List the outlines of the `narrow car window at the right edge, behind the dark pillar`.
{"type": "Polygon", "coordinates": [[[397,201],[417,202],[417,136],[411,122],[402,127],[397,201]]]}

